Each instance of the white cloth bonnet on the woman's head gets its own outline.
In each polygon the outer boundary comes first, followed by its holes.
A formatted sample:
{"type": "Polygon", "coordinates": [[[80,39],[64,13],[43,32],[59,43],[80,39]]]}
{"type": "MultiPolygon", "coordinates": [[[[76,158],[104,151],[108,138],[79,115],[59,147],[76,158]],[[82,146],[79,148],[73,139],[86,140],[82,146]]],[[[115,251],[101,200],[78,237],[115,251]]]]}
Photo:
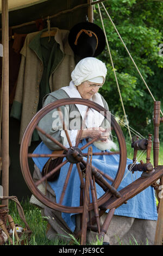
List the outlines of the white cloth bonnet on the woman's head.
{"type": "Polygon", "coordinates": [[[101,60],[87,57],[78,62],[71,73],[71,78],[75,86],[79,86],[84,81],[90,81],[96,77],[103,77],[104,83],[106,73],[106,66],[101,60]]]}

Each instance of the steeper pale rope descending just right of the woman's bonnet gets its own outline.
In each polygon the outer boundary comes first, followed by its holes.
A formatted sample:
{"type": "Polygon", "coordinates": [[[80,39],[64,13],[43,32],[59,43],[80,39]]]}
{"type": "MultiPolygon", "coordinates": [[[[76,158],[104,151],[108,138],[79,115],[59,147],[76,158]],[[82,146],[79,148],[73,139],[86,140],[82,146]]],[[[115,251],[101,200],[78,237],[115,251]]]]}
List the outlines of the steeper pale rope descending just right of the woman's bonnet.
{"type": "Polygon", "coordinates": [[[107,36],[106,36],[105,27],[104,27],[104,23],[103,23],[103,19],[102,19],[101,10],[100,10],[100,8],[99,8],[99,4],[98,4],[98,10],[99,10],[99,15],[100,15],[100,17],[101,17],[101,22],[102,22],[102,26],[103,26],[103,31],[104,31],[104,34],[105,34],[105,38],[106,38],[106,45],[108,46],[109,56],[110,56],[110,60],[111,60],[111,64],[112,64],[112,69],[113,69],[113,71],[114,71],[114,76],[115,76],[115,80],[116,80],[116,84],[117,84],[117,88],[118,88],[118,93],[119,93],[119,95],[120,95],[120,99],[121,99],[121,103],[122,103],[123,113],[124,113],[124,116],[125,116],[125,118],[126,118],[126,123],[127,123],[127,127],[128,127],[129,136],[130,136],[130,139],[132,140],[131,133],[130,133],[130,129],[129,129],[129,124],[128,124],[128,120],[127,120],[127,115],[126,115],[126,111],[125,111],[125,109],[124,109],[123,100],[122,100],[122,95],[121,95],[120,87],[119,87],[119,84],[118,84],[118,80],[117,80],[117,76],[116,76],[116,72],[115,72],[115,68],[114,68],[114,63],[113,63],[113,61],[112,61],[112,56],[111,56],[111,52],[110,52],[110,48],[109,48],[109,44],[108,44],[108,40],[107,40],[107,36]]]}

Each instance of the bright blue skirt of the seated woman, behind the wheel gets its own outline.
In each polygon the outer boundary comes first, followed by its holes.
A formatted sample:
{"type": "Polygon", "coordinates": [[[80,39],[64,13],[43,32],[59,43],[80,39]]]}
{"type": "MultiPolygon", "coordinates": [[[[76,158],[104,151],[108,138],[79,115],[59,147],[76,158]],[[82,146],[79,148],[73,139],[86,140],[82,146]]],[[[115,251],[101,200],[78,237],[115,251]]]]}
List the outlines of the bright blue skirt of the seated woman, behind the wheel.
{"type": "MultiPolygon", "coordinates": [[[[79,144],[79,148],[83,147],[86,144],[86,140],[83,139],[82,143],[79,144]]],[[[93,152],[101,152],[101,150],[97,149],[93,144],[92,150],[93,152]]],[[[88,148],[83,150],[83,153],[87,153],[88,148]]],[[[109,151],[109,150],[106,150],[109,151]]],[[[51,154],[52,150],[48,149],[47,146],[41,142],[37,148],[34,150],[33,154],[51,154]]],[[[33,157],[33,161],[36,166],[42,171],[43,166],[47,162],[48,157],[33,157]]],[[[65,160],[65,159],[64,159],[65,160]]],[[[63,161],[64,161],[63,160],[63,161]]],[[[86,161],[86,158],[84,159],[86,161]]],[[[112,178],[115,178],[118,164],[120,160],[120,155],[93,155],[92,156],[92,165],[96,168],[102,170],[104,173],[110,175],[112,178]]],[[[124,173],[124,178],[121,181],[120,186],[118,187],[118,191],[122,190],[122,188],[128,186],[134,180],[140,178],[141,172],[135,172],[131,174],[128,172],[128,164],[133,163],[132,160],[127,159],[127,166],[124,173]],[[127,174],[128,173],[128,174],[127,174]],[[127,175],[126,175],[127,174],[127,175]],[[126,175],[126,176],[125,176],[126,175]]],[[[59,203],[62,188],[64,186],[64,182],[66,179],[66,175],[68,172],[68,167],[70,163],[66,163],[60,169],[60,175],[58,179],[54,182],[48,182],[52,187],[53,191],[56,195],[57,203],[59,203]]],[[[109,181],[108,181],[109,182],[109,181]]],[[[96,184],[97,197],[101,197],[104,194],[103,189],[96,184]]],[[[90,193],[91,198],[91,193],[90,193]]],[[[64,196],[64,200],[62,202],[65,206],[79,206],[80,205],[80,179],[77,171],[76,164],[73,164],[73,168],[71,171],[70,179],[66,188],[66,193],[64,196]]],[[[109,211],[109,210],[107,210],[109,211]]],[[[107,212],[106,211],[106,212],[107,212]]],[[[157,220],[158,214],[156,210],[156,200],[155,200],[155,192],[154,189],[149,186],[137,196],[128,200],[127,204],[123,204],[115,210],[115,215],[141,218],[145,220],[157,220]]],[[[74,214],[66,214],[62,212],[62,218],[67,223],[68,227],[74,231],[76,227],[76,218],[74,214]]]]}

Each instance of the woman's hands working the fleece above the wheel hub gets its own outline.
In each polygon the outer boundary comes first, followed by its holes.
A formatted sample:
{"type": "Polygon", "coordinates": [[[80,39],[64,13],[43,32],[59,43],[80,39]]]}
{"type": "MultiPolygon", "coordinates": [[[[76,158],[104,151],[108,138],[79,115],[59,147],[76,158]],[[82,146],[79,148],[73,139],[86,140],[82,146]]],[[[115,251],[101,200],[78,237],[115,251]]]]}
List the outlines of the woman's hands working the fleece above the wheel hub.
{"type": "Polygon", "coordinates": [[[91,127],[82,131],[82,136],[80,137],[80,139],[98,138],[100,141],[107,142],[108,137],[109,137],[109,132],[103,127],[91,127]]]}

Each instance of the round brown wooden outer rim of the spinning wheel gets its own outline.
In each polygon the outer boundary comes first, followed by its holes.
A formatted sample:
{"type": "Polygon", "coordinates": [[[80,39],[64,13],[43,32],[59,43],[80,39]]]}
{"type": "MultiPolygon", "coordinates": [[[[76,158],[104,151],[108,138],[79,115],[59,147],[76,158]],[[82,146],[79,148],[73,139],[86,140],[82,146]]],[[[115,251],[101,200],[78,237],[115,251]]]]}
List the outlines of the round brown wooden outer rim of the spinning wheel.
{"type": "MultiPolygon", "coordinates": [[[[61,100],[57,100],[52,103],[49,103],[48,105],[40,109],[39,112],[36,113],[36,115],[33,117],[29,125],[27,126],[26,131],[24,132],[21,148],[20,148],[20,164],[21,164],[23,178],[26,181],[26,184],[29,187],[29,190],[34,194],[34,196],[40,202],[42,202],[44,205],[48,206],[49,208],[55,209],[60,212],[79,214],[83,212],[83,206],[65,206],[49,200],[35,186],[34,180],[32,178],[32,175],[30,173],[30,169],[28,166],[28,147],[29,147],[30,139],[32,137],[32,134],[36,125],[39,123],[39,121],[44,115],[46,115],[48,112],[52,111],[53,109],[61,107],[63,105],[72,105],[72,104],[85,105],[87,107],[91,107],[95,109],[98,112],[102,111],[103,116],[106,118],[106,109],[90,100],[71,98],[71,99],[61,99],[61,100]],[[25,169],[25,172],[24,172],[24,169],[25,169]]],[[[112,183],[112,186],[114,186],[117,189],[121,183],[121,180],[123,178],[123,175],[126,169],[127,150],[126,150],[126,142],[125,142],[122,130],[120,126],[117,124],[114,117],[112,117],[112,115],[111,115],[111,125],[114,126],[114,130],[115,130],[115,133],[118,139],[118,144],[120,147],[120,162],[119,162],[119,166],[118,166],[118,170],[117,170],[117,174],[115,176],[114,182],[112,183]]],[[[104,204],[106,200],[108,200],[109,194],[111,194],[111,192],[106,191],[102,197],[98,198],[98,206],[104,204]]],[[[93,209],[93,203],[90,203],[89,211],[92,209],[93,209]]]]}

